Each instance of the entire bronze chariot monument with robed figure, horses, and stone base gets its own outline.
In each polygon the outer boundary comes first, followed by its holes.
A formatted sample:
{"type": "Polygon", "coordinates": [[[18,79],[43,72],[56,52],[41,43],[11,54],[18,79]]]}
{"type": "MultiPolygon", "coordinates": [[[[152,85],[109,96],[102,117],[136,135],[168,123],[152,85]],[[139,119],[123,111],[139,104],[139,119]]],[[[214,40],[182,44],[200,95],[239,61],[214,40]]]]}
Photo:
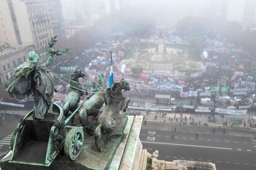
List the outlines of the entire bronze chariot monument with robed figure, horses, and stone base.
{"type": "Polygon", "coordinates": [[[2,170],[216,169],[212,163],[158,160],[158,151],[150,154],[143,150],[139,139],[143,116],[124,114],[130,100],[123,94],[130,87],[124,79],[113,81],[113,69],[108,86],[105,78],[98,75],[90,85],[92,90],[87,91],[83,89],[85,84],[78,81],[85,75],[76,68],[69,81],[71,91],[64,100],[64,108],[56,105],[53,77],[60,80],[62,77],[46,67],[54,57],[69,51],[67,48],[55,51],[56,42],[57,37],[52,38],[49,52],[43,53],[49,55],[46,63],[38,65],[39,55],[30,52],[28,60],[15,69],[6,84],[9,94],[20,102],[35,95],[35,107],[14,129],[11,151],[0,161],[2,170]],[[85,92],[88,96],[79,104],[85,92]]]}

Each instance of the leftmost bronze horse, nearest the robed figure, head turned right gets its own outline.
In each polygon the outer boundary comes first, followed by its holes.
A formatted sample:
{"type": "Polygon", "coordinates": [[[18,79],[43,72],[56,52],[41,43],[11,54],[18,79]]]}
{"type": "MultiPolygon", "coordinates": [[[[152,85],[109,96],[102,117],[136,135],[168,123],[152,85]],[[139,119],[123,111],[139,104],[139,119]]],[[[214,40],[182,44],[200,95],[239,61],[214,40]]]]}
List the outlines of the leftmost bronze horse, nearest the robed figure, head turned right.
{"type": "MultiPolygon", "coordinates": [[[[64,99],[63,105],[63,113],[67,118],[69,116],[69,111],[75,111],[77,109],[78,104],[80,102],[80,97],[85,94],[85,92],[81,91],[82,86],[79,84],[79,78],[83,78],[85,75],[82,73],[79,68],[75,70],[71,75],[70,80],[70,92],[67,97],[64,99]]],[[[71,123],[73,123],[74,118],[72,118],[71,123]]]]}

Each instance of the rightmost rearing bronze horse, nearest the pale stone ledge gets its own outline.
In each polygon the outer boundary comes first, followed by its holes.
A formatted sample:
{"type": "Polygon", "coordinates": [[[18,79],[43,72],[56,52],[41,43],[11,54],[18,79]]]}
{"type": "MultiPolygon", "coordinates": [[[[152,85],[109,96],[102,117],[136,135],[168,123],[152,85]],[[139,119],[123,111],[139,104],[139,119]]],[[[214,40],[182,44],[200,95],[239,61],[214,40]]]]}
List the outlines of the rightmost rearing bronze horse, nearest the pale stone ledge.
{"type": "Polygon", "coordinates": [[[111,87],[108,87],[106,90],[108,97],[108,105],[105,110],[100,114],[98,118],[98,126],[95,129],[94,137],[96,147],[100,152],[106,152],[104,147],[104,135],[108,136],[122,136],[122,132],[113,133],[114,128],[116,127],[116,121],[120,116],[120,111],[126,111],[130,99],[126,99],[122,95],[122,91],[129,91],[130,86],[127,81],[123,79],[118,83],[114,83],[111,87]]]}

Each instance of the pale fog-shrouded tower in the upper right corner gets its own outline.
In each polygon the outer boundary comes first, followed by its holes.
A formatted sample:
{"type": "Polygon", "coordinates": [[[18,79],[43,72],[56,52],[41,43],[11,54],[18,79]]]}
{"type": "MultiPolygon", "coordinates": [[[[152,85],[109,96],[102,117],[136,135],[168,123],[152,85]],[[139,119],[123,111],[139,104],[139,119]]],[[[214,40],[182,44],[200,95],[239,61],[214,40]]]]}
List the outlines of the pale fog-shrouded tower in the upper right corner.
{"type": "Polygon", "coordinates": [[[244,17],[242,23],[245,27],[250,28],[255,25],[255,0],[247,0],[244,8],[244,17]]]}

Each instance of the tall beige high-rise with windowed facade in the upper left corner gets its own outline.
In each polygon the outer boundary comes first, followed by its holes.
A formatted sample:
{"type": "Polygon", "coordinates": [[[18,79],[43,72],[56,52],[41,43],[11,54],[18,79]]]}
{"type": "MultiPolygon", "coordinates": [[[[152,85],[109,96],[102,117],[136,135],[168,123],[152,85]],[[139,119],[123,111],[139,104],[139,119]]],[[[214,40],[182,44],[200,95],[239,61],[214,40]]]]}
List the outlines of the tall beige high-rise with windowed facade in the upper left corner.
{"type": "Polygon", "coordinates": [[[45,47],[49,38],[56,34],[59,18],[57,0],[1,0],[0,1],[0,45],[31,45],[36,50],[45,47]],[[49,6],[52,4],[52,7],[49,6]]]}

